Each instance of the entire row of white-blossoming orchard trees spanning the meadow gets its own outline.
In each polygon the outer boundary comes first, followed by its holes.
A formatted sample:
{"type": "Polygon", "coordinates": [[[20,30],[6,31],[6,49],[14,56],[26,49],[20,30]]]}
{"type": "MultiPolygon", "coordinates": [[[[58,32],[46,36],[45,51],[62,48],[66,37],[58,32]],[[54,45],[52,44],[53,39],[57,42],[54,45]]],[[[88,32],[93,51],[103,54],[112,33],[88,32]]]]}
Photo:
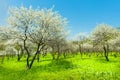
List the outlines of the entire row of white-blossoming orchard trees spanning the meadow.
{"type": "Polygon", "coordinates": [[[109,52],[119,52],[120,32],[107,24],[99,24],[89,35],[78,35],[76,40],[67,40],[67,20],[51,9],[20,7],[9,10],[8,26],[0,27],[0,54],[26,55],[26,68],[30,69],[35,59],[48,52],[52,59],[66,58],[69,54],[103,54],[109,61],[109,52]],[[56,57],[57,55],[57,57],[56,57]],[[32,60],[30,60],[30,57],[32,60]]]}

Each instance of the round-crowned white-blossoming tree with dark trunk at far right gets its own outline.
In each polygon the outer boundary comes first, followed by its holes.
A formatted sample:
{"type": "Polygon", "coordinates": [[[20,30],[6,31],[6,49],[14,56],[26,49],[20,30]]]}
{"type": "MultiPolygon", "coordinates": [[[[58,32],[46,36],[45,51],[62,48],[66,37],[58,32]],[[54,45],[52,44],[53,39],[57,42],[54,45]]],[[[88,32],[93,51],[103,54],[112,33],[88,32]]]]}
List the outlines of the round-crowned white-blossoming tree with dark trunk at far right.
{"type": "Polygon", "coordinates": [[[108,41],[116,38],[116,36],[117,36],[117,31],[114,28],[112,28],[110,25],[107,25],[107,24],[97,25],[97,27],[92,32],[91,41],[93,42],[93,45],[100,45],[103,48],[104,56],[107,61],[109,61],[108,41]]]}

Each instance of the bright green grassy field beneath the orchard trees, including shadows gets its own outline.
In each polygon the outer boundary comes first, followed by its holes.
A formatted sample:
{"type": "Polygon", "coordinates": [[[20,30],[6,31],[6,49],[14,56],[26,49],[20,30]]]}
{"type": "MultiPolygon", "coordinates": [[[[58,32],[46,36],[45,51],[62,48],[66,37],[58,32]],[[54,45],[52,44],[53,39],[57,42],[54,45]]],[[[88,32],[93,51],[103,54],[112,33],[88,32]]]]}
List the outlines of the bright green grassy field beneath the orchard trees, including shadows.
{"type": "Polygon", "coordinates": [[[120,57],[109,59],[77,55],[57,62],[48,55],[26,70],[24,58],[20,62],[10,58],[0,63],[0,80],[120,80],[120,57]]]}

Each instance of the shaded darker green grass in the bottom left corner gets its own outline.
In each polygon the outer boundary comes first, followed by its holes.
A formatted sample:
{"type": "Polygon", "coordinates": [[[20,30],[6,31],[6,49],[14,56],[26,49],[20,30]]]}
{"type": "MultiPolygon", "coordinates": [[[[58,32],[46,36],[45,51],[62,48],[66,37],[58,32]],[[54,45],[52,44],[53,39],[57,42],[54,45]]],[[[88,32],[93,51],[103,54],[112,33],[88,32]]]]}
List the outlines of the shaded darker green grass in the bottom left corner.
{"type": "Polygon", "coordinates": [[[29,80],[25,78],[30,74],[32,74],[32,71],[26,71],[25,69],[0,67],[0,80],[29,80]]]}

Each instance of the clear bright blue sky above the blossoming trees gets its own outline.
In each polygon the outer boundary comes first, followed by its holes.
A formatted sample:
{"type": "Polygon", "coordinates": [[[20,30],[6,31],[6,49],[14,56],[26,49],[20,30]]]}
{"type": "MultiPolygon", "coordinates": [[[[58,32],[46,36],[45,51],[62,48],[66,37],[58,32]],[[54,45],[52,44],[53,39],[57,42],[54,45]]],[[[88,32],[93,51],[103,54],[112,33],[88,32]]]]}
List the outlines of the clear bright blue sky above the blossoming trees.
{"type": "Polygon", "coordinates": [[[88,33],[97,24],[120,26],[120,0],[0,0],[0,25],[7,24],[8,8],[32,6],[34,9],[51,8],[68,19],[70,37],[88,33]]]}

